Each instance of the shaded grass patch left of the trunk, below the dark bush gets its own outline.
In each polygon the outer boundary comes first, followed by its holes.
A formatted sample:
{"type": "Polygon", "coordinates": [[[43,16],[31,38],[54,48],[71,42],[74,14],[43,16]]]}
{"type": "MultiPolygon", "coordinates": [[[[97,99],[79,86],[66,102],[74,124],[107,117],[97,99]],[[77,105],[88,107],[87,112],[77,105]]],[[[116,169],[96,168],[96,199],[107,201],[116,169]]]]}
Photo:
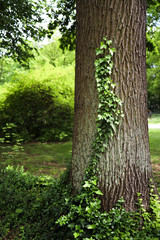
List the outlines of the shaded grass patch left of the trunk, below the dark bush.
{"type": "MultiPolygon", "coordinates": [[[[0,159],[3,167],[24,166],[24,170],[34,175],[58,177],[71,160],[72,142],[65,143],[27,143],[24,153],[12,159],[0,159]]],[[[1,152],[4,150],[1,149],[1,152]]]]}

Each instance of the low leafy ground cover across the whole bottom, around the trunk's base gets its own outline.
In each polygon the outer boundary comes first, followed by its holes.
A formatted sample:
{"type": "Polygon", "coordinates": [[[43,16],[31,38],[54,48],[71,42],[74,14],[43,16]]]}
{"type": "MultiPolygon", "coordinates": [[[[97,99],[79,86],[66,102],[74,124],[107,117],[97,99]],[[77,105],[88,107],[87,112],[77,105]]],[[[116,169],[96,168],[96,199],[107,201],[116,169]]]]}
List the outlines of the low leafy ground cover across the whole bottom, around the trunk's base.
{"type": "Polygon", "coordinates": [[[138,212],[127,212],[121,199],[107,213],[100,210],[100,200],[91,196],[87,186],[85,183],[73,197],[68,174],[53,179],[36,177],[13,167],[1,170],[0,239],[160,238],[160,203],[155,195],[151,194],[152,213],[142,208],[141,199],[138,212]]]}

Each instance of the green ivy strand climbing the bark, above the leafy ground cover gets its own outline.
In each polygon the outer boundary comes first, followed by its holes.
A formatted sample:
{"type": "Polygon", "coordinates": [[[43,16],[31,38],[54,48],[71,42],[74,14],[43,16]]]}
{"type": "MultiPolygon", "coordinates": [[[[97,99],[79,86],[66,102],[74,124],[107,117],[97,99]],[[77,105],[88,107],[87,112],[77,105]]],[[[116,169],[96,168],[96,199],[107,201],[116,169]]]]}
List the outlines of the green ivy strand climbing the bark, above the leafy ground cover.
{"type": "Polygon", "coordinates": [[[115,84],[112,82],[111,74],[113,68],[112,56],[115,52],[111,48],[112,41],[103,38],[100,48],[96,49],[95,79],[99,96],[98,117],[96,121],[97,131],[92,143],[92,155],[86,176],[89,180],[97,172],[97,164],[101,153],[107,147],[109,139],[116,132],[121,111],[121,100],[114,93],[115,84]]]}

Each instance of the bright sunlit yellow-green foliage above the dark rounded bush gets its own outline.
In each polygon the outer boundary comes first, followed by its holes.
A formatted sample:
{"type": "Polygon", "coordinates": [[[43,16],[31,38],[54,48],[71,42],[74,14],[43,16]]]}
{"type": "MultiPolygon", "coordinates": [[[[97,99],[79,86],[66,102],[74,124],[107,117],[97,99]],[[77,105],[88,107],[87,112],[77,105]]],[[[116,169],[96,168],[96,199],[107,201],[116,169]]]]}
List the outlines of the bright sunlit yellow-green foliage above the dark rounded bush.
{"type": "MultiPolygon", "coordinates": [[[[30,69],[22,67],[11,58],[3,58],[0,61],[0,84],[19,81],[19,79],[58,79],[59,84],[69,84],[74,82],[74,62],[75,52],[65,51],[59,48],[59,41],[55,37],[50,43],[39,49],[39,54],[35,54],[35,59],[29,60],[30,69]]],[[[49,81],[49,80],[48,80],[49,81]]],[[[4,87],[4,86],[3,86],[4,87]]],[[[4,90],[3,90],[4,91],[4,90]]],[[[2,95],[2,94],[0,94],[2,95]]]]}

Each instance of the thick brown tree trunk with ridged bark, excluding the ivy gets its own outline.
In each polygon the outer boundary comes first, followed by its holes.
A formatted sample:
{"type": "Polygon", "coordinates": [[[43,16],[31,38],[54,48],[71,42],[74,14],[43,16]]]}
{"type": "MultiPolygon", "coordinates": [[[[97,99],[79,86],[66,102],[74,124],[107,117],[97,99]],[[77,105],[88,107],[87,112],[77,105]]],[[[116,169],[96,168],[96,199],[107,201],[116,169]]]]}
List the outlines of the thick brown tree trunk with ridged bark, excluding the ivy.
{"type": "Polygon", "coordinates": [[[146,0],[77,0],[76,87],[71,181],[80,188],[96,131],[98,93],[95,49],[104,36],[116,49],[112,79],[124,119],[99,163],[102,204],[108,210],[123,196],[135,209],[137,193],[149,202],[146,80],[146,0]]]}

